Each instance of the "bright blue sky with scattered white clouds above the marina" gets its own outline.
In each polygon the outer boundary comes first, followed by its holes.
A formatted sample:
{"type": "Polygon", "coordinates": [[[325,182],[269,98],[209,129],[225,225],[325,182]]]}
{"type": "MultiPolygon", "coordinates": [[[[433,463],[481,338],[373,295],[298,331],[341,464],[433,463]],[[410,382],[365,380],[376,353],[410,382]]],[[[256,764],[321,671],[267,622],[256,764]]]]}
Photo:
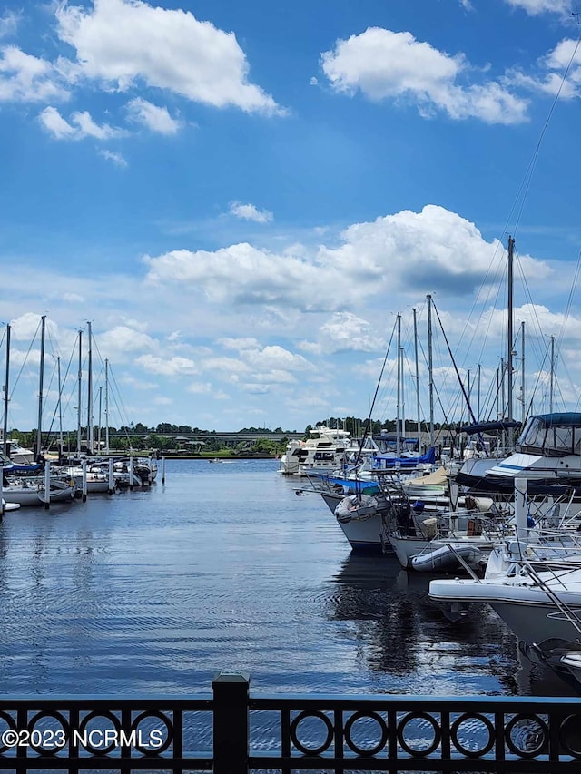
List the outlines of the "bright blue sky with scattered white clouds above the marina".
{"type": "Polygon", "coordinates": [[[9,430],[579,409],[581,3],[2,9],[9,430]]]}

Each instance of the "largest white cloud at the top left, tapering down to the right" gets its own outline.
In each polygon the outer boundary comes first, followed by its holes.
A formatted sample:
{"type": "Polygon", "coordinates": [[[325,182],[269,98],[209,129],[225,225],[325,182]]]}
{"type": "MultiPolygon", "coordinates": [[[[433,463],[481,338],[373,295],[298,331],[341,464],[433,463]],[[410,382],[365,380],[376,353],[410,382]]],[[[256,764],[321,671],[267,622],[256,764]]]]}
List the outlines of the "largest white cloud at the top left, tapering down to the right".
{"type": "Polygon", "coordinates": [[[269,94],[248,82],[249,64],[236,36],[189,11],[100,0],[92,9],[60,5],[56,18],[59,36],[76,50],[72,77],[121,92],[141,81],[215,107],[280,112],[269,94]]]}

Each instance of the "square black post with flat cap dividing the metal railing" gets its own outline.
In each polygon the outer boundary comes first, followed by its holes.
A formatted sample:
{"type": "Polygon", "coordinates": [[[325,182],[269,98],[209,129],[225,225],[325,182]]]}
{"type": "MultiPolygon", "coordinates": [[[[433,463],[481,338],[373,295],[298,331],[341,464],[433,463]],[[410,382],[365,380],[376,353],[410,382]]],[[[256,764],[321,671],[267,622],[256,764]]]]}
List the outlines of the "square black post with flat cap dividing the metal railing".
{"type": "Polygon", "coordinates": [[[219,672],[212,681],[214,774],[248,774],[250,676],[219,672]]]}

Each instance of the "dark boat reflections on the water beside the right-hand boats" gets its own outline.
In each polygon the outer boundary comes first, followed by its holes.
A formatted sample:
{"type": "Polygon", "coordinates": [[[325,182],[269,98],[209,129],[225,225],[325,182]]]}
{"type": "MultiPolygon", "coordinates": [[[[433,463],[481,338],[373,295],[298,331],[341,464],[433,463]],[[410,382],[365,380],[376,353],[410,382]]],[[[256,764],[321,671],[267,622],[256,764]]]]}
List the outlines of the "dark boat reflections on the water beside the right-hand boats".
{"type": "Polygon", "coordinates": [[[518,652],[488,605],[451,621],[428,597],[432,577],[401,569],[395,558],[350,554],[333,578],[330,618],[354,624],[360,657],[369,671],[390,676],[392,692],[428,693],[443,683],[450,694],[574,695],[518,652]]]}

